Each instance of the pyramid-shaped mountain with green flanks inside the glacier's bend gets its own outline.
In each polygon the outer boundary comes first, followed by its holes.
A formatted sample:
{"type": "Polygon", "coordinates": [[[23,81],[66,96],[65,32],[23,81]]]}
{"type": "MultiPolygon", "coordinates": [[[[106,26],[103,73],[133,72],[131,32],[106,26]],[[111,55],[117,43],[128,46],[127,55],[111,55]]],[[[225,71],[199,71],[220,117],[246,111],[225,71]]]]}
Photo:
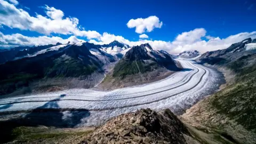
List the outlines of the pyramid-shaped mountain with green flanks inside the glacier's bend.
{"type": "Polygon", "coordinates": [[[115,89],[154,82],[179,70],[171,55],[155,51],[149,44],[133,46],[117,62],[113,70],[99,85],[102,89],[115,89]]]}

